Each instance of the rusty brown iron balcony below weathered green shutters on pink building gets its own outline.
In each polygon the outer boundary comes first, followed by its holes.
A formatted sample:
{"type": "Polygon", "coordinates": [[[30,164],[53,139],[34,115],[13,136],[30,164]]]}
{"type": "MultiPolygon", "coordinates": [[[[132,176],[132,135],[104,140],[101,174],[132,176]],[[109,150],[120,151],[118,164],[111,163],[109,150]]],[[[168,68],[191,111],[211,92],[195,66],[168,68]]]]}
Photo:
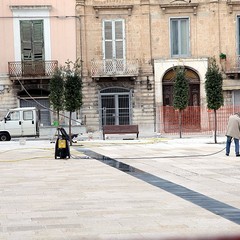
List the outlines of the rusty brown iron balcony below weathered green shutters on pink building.
{"type": "Polygon", "coordinates": [[[58,67],[58,61],[18,61],[8,62],[10,79],[48,79],[58,67]]]}

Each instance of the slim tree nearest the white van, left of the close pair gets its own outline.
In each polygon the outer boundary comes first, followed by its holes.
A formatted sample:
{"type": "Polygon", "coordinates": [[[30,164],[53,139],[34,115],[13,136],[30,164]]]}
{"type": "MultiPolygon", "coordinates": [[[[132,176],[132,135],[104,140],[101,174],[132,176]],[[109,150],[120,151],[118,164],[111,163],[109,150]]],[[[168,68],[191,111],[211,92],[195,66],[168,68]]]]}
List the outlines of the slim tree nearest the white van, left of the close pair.
{"type": "Polygon", "coordinates": [[[57,68],[50,79],[50,103],[53,106],[53,110],[57,112],[57,121],[59,124],[59,113],[64,109],[64,79],[62,76],[62,70],[57,68]]]}

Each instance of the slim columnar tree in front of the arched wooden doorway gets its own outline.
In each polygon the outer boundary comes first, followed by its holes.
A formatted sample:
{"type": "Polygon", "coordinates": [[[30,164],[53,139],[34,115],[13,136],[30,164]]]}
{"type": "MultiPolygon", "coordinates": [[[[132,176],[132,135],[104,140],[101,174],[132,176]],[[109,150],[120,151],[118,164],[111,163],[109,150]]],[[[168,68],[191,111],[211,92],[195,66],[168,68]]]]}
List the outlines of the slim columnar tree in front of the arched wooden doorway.
{"type": "Polygon", "coordinates": [[[185,69],[177,67],[175,70],[176,78],[173,85],[173,107],[179,110],[178,124],[179,135],[182,138],[182,111],[188,106],[189,84],[185,77],[185,69]]]}

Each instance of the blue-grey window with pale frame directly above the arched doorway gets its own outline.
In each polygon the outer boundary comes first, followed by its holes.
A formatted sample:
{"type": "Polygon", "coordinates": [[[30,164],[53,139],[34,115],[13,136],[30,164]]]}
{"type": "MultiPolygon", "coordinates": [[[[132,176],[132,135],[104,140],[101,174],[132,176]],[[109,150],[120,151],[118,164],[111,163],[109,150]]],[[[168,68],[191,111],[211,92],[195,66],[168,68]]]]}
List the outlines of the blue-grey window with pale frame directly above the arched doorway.
{"type": "Polygon", "coordinates": [[[171,55],[186,57],[189,55],[189,19],[172,18],[170,20],[171,55]]]}

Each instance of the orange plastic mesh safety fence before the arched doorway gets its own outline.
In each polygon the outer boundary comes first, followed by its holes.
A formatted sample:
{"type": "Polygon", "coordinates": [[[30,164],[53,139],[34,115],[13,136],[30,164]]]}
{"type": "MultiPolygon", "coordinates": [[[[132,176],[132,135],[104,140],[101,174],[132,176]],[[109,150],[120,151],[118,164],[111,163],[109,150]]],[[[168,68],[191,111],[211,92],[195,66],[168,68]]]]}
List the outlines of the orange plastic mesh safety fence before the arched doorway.
{"type": "MultiPolygon", "coordinates": [[[[173,106],[159,108],[159,127],[161,133],[177,134],[179,132],[179,111],[173,106]]],[[[217,132],[225,135],[228,118],[240,112],[240,106],[223,106],[217,110],[217,132]]],[[[184,134],[209,134],[215,129],[214,111],[206,107],[188,106],[182,111],[182,132],[184,134]]]]}

